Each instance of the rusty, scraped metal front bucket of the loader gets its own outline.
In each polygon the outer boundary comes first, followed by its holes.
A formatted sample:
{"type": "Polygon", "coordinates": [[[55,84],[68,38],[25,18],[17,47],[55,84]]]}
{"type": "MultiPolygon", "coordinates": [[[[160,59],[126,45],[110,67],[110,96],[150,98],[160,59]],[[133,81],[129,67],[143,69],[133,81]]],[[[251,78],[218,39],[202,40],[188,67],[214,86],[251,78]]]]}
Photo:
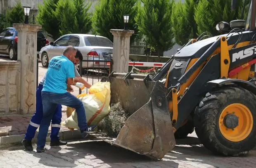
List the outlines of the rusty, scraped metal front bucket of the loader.
{"type": "Polygon", "coordinates": [[[162,159],[175,147],[163,83],[140,78],[124,80],[114,75],[103,77],[102,81],[111,83],[111,103],[120,102],[131,115],[116,139],[94,134],[95,137],[153,159],[162,159]]]}

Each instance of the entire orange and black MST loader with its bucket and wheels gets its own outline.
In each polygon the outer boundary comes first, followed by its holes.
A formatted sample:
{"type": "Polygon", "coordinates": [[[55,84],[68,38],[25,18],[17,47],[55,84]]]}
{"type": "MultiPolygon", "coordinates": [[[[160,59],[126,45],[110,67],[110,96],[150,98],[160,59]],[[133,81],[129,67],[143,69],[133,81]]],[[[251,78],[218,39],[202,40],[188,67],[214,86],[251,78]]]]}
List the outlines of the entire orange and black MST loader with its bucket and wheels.
{"type": "Polygon", "coordinates": [[[102,78],[111,83],[111,103],[121,102],[130,117],[117,137],[92,136],[162,159],[175,138],[195,130],[214,154],[248,153],[256,146],[255,20],[256,0],[250,0],[247,21],[218,23],[226,34],[191,39],[154,76],[102,78]]]}

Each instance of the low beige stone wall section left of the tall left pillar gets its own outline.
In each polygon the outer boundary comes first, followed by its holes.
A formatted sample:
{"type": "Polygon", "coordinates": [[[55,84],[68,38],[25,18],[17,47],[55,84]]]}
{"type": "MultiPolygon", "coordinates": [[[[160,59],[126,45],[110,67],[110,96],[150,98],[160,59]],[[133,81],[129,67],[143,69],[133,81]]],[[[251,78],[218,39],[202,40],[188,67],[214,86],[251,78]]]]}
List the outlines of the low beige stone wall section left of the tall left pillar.
{"type": "Polygon", "coordinates": [[[20,62],[0,62],[0,116],[19,114],[20,62]]]}

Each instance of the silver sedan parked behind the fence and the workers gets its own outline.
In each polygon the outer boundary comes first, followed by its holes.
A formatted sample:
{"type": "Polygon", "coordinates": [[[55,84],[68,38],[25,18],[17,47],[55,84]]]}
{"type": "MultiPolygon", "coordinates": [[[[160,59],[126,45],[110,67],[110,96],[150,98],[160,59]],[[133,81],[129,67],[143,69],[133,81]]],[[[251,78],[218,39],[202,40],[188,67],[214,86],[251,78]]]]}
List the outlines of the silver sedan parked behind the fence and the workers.
{"type": "Polygon", "coordinates": [[[39,52],[39,60],[43,67],[48,67],[52,57],[62,55],[68,45],[72,45],[82,52],[83,60],[85,60],[83,68],[108,68],[104,61],[111,59],[113,43],[106,37],[90,34],[66,34],[55,42],[50,42],[50,45],[43,47],[39,52]]]}

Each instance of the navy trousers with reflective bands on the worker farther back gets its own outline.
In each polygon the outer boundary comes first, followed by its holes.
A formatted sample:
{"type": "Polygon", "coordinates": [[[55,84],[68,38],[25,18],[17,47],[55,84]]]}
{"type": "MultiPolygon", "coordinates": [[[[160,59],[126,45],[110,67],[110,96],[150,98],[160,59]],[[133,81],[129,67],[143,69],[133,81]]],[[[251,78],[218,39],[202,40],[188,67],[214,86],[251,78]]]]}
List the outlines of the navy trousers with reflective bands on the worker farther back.
{"type": "MultiPolygon", "coordinates": [[[[42,104],[42,97],[41,91],[43,89],[43,85],[38,85],[36,90],[36,112],[32,116],[30,123],[27,128],[27,132],[25,134],[26,140],[32,140],[35,136],[36,129],[39,127],[40,122],[43,118],[43,104],[42,104]]],[[[60,123],[62,121],[62,105],[58,104],[55,110],[55,113],[52,117],[52,130],[51,130],[51,140],[57,140],[59,138],[58,133],[60,129],[60,123]]]]}

